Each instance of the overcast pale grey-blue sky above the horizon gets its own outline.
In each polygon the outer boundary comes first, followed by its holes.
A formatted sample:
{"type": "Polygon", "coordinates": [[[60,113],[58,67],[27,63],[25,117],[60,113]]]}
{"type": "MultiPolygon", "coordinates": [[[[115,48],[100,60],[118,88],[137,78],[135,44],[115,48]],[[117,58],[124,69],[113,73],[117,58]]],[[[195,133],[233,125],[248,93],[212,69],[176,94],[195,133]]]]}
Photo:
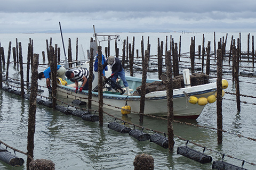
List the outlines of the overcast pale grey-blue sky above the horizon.
{"type": "Polygon", "coordinates": [[[0,0],[0,33],[256,31],[255,0],[0,0]]]}

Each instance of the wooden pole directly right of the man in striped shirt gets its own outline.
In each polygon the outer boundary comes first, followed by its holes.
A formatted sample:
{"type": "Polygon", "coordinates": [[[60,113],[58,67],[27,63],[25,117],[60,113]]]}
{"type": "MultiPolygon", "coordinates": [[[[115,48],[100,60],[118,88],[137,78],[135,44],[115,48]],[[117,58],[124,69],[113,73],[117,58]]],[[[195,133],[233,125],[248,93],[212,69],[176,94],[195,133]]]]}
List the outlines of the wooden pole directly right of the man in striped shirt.
{"type": "MultiPolygon", "coordinates": [[[[90,67],[89,67],[89,89],[88,89],[88,108],[92,109],[92,81],[93,81],[93,48],[90,53],[90,67]]],[[[103,70],[103,69],[102,69],[103,70]]]]}

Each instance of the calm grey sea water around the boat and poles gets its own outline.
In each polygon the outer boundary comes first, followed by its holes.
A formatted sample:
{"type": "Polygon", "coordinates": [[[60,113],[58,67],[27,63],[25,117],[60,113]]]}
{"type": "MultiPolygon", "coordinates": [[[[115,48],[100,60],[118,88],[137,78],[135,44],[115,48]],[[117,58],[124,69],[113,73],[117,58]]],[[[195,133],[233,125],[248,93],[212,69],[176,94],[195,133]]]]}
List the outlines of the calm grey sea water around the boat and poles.
{"type": "MultiPolygon", "coordinates": [[[[249,32],[242,32],[242,50],[247,51],[247,34],[249,32]]],[[[254,32],[250,32],[254,35],[254,32]]],[[[103,34],[103,33],[102,33],[103,34]]],[[[129,37],[129,42],[132,42],[135,36],[135,49],[140,50],[140,41],[143,36],[145,47],[147,37],[150,37],[151,54],[157,54],[157,38],[165,42],[166,36],[170,39],[170,35],[174,41],[179,43],[179,37],[182,38],[181,52],[189,51],[191,37],[196,38],[196,46],[202,44],[202,36],[205,36],[205,46],[207,41],[211,41],[213,50],[213,33],[212,32],[198,32],[198,33],[106,33],[107,35],[118,34],[121,39],[129,37]]],[[[239,38],[238,32],[228,32],[227,44],[229,46],[231,35],[235,39],[239,38]]],[[[226,37],[226,32],[217,32],[216,39],[226,37]]],[[[255,35],[254,35],[255,36],[255,35]]],[[[58,44],[61,47],[62,57],[62,41],[60,34],[50,33],[34,33],[34,34],[0,34],[1,46],[5,48],[5,56],[7,58],[7,49],[9,41],[12,41],[12,47],[15,46],[15,38],[22,43],[23,57],[27,58],[27,44],[29,38],[34,42],[34,53],[42,54],[46,50],[46,39],[50,41],[52,37],[52,44],[58,44]]],[[[79,44],[79,58],[84,58],[86,49],[90,46],[90,37],[92,33],[64,33],[66,53],[68,47],[68,38],[71,38],[73,57],[75,57],[76,38],[79,44]],[[84,50],[84,53],[83,53],[84,50]]],[[[170,40],[169,40],[170,41],[170,40]]],[[[119,42],[119,54],[123,44],[119,42]]],[[[106,43],[101,43],[102,49],[106,43]]],[[[110,54],[115,55],[114,41],[111,42],[112,48],[110,54]]],[[[250,44],[251,46],[251,44],[250,44]]],[[[229,49],[229,47],[227,47],[229,49]]],[[[250,47],[251,49],[251,47],[250,47]]],[[[23,62],[26,63],[27,59],[23,62]]],[[[12,59],[11,59],[12,61],[12,59]]],[[[42,63],[42,58],[39,61],[42,63]]],[[[243,66],[246,66],[244,63],[243,66]]],[[[5,69],[5,68],[4,68],[5,69]]],[[[26,70],[26,66],[24,67],[26,70]]],[[[39,71],[43,70],[39,67],[39,71]]],[[[247,69],[249,70],[249,69],[247,69]]],[[[4,70],[5,71],[5,70],[4,70]]],[[[254,70],[251,70],[254,71],[254,70]]],[[[19,71],[17,67],[10,66],[9,76],[19,78],[19,71]]],[[[129,74],[129,73],[126,73],[129,74]]],[[[140,72],[135,73],[136,76],[141,76],[140,72]]],[[[151,73],[150,77],[157,77],[156,73],[151,73]]],[[[231,79],[231,75],[224,75],[223,78],[231,79]]],[[[255,82],[255,78],[240,78],[241,94],[256,96],[255,84],[248,82],[255,82]]],[[[229,87],[225,91],[235,92],[235,86],[232,81],[228,80],[229,87]]],[[[45,81],[39,81],[39,84],[44,86],[45,81]]],[[[45,90],[46,91],[46,90],[45,90]]],[[[47,96],[47,92],[43,92],[47,96]]],[[[236,97],[226,94],[226,99],[235,100],[236,97]]],[[[61,100],[70,103],[72,99],[65,97],[61,100]]],[[[255,99],[241,97],[242,101],[247,103],[256,103],[255,99]]],[[[97,106],[93,106],[97,109],[97,106]]],[[[230,100],[223,100],[222,114],[223,114],[223,130],[235,134],[242,134],[245,137],[256,138],[256,118],[255,118],[255,105],[241,104],[241,112],[236,110],[236,102],[230,100]]],[[[8,145],[22,151],[27,151],[27,126],[28,126],[28,109],[29,101],[22,99],[14,94],[9,94],[0,90],[0,140],[8,145]]],[[[74,108],[73,108],[74,109],[74,108]]],[[[139,116],[136,114],[129,114],[122,116],[121,112],[114,112],[109,109],[104,109],[105,112],[113,114],[127,122],[134,124],[139,123],[139,116]]],[[[109,122],[113,122],[114,118],[104,115],[103,127],[99,126],[98,122],[83,121],[82,118],[65,115],[58,111],[53,111],[42,105],[37,105],[36,111],[36,132],[35,132],[35,159],[50,159],[55,163],[56,169],[133,169],[133,160],[136,155],[146,153],[154,158],[155,169],[211,169],[212,163],[200,164],[194,160],[177,154],[179,146],[185,146],[186,141],[175,138],[174,150],[169,152],[153,142],[142,141],[129,136],[129,134],[122,134],[107,128],[109,122]]],[[[188,123],[207,126],[210,128],[217,128],[217,115],[216,105],[208,104],[201,116],[197,120],[181,120],[188,123]]],[[[164,120],[156,118],[144,117],[143,124],[146,128],[167,132],[167,123],[164,120]]],[[[132,127],[131,127],[132,128],[132,127]]],[[[236,135],[223,133],[222,145],[217,144],[217,131],[205,128],[198,128],[195,126],[188,126],[183,124],[174,123],[174,134],[187,140],[198,143],[201,146],[220,152],[226,155],[233,156],[238,159],[245,160],[246,162],[256,163],[256,145],[255,141],[246,138],[238,138],[236,135]]],[[[152,132],[146,131],[150,134],[152,132]]],[[[197,147],[191,143],[189,147],[198,151],[203,151],[203,148],[197,147]]],[[[9,149],[11,151],[11,149],[9,149]]],[[[221,160],[221,155],[207,150],[205,154],[212,156],[213,161],[221,160]]],[[[12,152],[13,153],[13,152],[12,152]]],[[[26,156],[16,153],[17,156],[22,157],[26,161],[26,156]]],[[[230,164],[241,166],[242,162],[236,159],[225,157],[224,160],[230,164]]],[[[255,166],[244,164],[244,168],[255,169],[255,166]]],[[[11,167],[3,162],[0,162],[0,169],[26,169],[26,163],[21,167],[11,167]]]]}

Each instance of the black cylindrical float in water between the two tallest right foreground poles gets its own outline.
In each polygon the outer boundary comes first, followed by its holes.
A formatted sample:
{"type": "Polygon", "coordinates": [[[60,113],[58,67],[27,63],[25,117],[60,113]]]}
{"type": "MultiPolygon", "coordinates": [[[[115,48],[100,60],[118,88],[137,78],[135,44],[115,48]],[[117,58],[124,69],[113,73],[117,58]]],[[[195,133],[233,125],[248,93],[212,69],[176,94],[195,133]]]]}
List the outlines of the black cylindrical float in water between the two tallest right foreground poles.
{"type": "MultiPolygon", "coordinates": [[[[205,149],[204,149],[205,150],[205,149]]],[[[204,151],[203,151],[204,152],[204,151]]],[[[207,156],[201,152],[198,152],[194,149],[191,149],[187,146],[185,147],[178,147],[177,148],[177,154],[183,155],[189,159],[193,159],[196,162],[199,162],[201,164],[206,164],[206,163],[211,163],[212,162],[212,157],[207,156]]]]}

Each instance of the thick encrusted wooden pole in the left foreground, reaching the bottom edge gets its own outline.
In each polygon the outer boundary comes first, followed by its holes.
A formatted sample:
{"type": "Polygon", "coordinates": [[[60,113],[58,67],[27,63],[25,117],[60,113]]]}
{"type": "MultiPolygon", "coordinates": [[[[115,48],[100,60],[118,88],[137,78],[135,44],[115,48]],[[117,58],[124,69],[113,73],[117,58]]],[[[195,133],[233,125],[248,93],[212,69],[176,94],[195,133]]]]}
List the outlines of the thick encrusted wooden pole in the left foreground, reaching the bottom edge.
{"type": "MultiPolygon", "coordinates": [[[[32,76],[31,76],[31,93],[29,98],[29,114],[28,114],[28,145],[27,154],[34,157],[34,135],[36,129],[36,97],[38,88],[38,58],[39,54],[34,54],[32,76]]],[[[31,158],[27,157],[27,169],[29,169],[29,163],[31,158]]]]}

